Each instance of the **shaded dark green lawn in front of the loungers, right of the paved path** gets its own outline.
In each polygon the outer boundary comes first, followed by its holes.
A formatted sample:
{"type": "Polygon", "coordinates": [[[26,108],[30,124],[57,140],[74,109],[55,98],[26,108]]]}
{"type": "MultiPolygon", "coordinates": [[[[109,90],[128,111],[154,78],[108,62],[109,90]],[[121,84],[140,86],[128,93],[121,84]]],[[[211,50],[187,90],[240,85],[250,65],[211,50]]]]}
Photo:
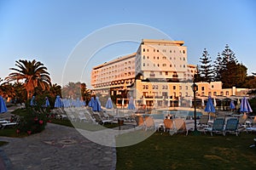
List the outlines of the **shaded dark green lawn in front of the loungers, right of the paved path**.
{"type": "Polygon", "coordinates": [[[117,170],[122,169],[254,169],[255,134],[240,136],[154,133],[143,142],[117,148],[117,170]]]}

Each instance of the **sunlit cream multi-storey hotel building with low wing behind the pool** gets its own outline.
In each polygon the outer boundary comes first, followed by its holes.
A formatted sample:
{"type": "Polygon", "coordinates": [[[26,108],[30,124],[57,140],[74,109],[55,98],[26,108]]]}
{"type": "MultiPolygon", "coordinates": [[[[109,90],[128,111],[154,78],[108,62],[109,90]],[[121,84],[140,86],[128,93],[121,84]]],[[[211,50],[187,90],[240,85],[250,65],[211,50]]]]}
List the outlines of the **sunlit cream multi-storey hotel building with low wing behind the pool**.
{"type": "MultiPolygon", "coordinates": [[[[91,86],[95,93],[133,96],[137,105],[174,106],[178,100],[189,105],[195,65],[189,65],[183,41],[143,39],[137,53],[93,67],[91,86]]],[[[245,89],[222,89],[222,82],[197,82],[198,98],[208,95],[230,97],[245,89]]],[[[116,101],[116,103],[118,103],[116,101]]]]}

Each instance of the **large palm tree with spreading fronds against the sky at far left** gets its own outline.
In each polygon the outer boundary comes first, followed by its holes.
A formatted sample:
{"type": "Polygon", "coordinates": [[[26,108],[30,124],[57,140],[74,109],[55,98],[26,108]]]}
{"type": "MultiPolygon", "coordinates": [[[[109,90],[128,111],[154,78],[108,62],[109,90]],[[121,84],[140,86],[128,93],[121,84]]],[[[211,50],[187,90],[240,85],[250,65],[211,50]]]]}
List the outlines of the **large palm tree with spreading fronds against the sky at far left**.
{"type": "Polygon", "coordinates": [[[44,64],[36,61],[35,59],[32,61],[20,59],[19,61],[15,62],[15,65],[19,68],[10,68],[10,70],[15,72],[10,73],[5,80],[8,82],[24,82],[27,99],[32,98],[34,89],[37,87],[40,87],[43,90],[49,89],[51,82],[49,72],[44,64]]]}

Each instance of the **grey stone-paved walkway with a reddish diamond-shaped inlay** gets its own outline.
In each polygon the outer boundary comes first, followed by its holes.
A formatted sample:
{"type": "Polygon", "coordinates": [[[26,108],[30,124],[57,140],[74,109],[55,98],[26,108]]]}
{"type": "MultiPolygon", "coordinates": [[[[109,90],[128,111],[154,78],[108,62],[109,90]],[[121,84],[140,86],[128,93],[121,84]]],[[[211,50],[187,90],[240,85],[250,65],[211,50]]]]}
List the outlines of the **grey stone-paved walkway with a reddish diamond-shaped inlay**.
{"type": "Polygon", "coordinates": [[[9,142],[0,147],[1,170],[3,164],[7,170],[115,169],[115,148],[95,144],[72,127],[48,123],[42,133],[0,141],[9,142]]]}

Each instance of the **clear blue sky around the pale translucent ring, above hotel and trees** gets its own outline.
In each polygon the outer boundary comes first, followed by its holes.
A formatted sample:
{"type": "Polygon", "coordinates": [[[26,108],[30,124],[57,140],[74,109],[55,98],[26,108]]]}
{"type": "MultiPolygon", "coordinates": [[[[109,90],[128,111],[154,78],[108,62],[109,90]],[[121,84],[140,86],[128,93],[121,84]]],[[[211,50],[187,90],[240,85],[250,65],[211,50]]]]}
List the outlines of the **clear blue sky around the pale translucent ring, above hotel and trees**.
{"type": "MultiPolygon", "coordinates": [[[[15,60],[36,59],[48,68],[52,82],[61,84],[64,66],[79,42],[103,27],[122,23],[152,26],[173,40],[183,40],[188,47],[189,64],[194,65],[199,64],[204,48],[214,60],[228,43],[250,75],[256,72],[255,8],[253,0],[1,0],[0,77],[9,75],[15,60]]],[[[103,48],[90,66],[134,53],[140,41],[138,38],[137,42],[122,43],[120,47],[103,48]]],[[[83,74],[87,78],[71,77],[70,81],[89,85],[90,72],[83,74]]]]}

